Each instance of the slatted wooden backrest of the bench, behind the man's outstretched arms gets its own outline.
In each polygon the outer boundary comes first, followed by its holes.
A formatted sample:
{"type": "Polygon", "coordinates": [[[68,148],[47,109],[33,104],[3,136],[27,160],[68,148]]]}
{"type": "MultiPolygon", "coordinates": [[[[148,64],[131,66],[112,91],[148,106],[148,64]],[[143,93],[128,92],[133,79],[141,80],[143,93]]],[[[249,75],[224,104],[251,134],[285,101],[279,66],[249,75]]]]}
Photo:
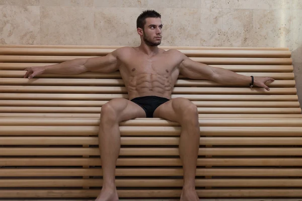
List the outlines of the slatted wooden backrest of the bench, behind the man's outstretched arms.
{"type": "MultiPolygon", "coordinates": [[[[100,108],[116,97],[127,98],[118,71],[110,74],[42,74],[23,78],[29,66],[74,58],[104,56],[116,46],[0,46],[0,117],[99,117],[100,108]]],[[[220,85],[182,75],[172,97],[186,97],[197,105],[200,118],[299,117],[291,53],[287,48],[177,48],[192,60],[243,75],[275,79],[264,88],[220,85]]]]}

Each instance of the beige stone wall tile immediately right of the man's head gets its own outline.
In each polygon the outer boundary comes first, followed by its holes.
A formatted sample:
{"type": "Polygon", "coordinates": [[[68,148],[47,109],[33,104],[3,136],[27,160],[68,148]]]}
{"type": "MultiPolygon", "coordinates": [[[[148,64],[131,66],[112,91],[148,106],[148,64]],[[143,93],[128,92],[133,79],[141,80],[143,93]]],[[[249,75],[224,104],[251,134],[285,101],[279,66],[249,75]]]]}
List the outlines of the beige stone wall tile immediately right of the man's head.
{"type": "Polygon", "coordinates": [[[200,45],[199,9],[166,9],[163,16],[163,45],[200,45]]]}

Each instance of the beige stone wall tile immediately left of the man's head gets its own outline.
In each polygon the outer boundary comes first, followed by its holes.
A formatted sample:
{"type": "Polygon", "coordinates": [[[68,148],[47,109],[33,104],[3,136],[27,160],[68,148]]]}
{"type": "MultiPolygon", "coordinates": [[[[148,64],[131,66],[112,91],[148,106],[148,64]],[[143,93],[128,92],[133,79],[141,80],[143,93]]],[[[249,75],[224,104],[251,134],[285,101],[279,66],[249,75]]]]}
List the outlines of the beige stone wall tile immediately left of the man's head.
{"type": "Polygon", "coordinates": [[[143,8],[95,8],[95,45],[139,45],[136,19],[143,8]]]}

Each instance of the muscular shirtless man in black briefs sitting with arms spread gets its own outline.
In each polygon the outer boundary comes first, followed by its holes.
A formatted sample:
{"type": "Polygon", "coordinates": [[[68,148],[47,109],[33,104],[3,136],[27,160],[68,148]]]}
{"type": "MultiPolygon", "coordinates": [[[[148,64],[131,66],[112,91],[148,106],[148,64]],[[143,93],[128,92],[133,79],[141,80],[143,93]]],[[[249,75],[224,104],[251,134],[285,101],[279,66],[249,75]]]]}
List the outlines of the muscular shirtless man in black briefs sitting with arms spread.
{"type": "MultiPolygon", "coordinates": [[[[198,63],[178,50],[158,48],[162,40],[161,15],[144,11],[137,18],[138,47],[122,47],[106,56],[73,59],[50,66],[30,67],[24,78],[42,73],[80,74],[83,72],[111,73],[119,70],[128,91],[128,99],[114,98],[102,106],[99,127],[99,149],[103,169],[103,188],[96,201],[116,201],[116,160],[120,151],[119,123],[134,118],[163,118],[181,125],[179,142],[184,180],[180,200],[197,201],[195,172],[199,149],[197,107],[183,97],[171,98],[178,75],[191,79],[207,79],[220,84],[246,85],[252,77],[222,68],[198,63]]],[[[264,87],[269,77],[255,77],[254,85],[264,87]]]]}

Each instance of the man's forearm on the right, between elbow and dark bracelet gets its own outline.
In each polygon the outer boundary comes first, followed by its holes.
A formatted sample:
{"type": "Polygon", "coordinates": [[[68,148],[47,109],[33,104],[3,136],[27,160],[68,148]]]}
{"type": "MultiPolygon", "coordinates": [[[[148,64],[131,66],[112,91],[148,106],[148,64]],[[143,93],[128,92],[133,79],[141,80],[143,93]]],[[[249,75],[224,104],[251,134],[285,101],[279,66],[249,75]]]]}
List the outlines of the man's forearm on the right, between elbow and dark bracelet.
{"type": "Polygon", "coordinates": [[[215,75],[213,76],[213,81],[220,84],[235,84],[248,86],[252,82],[252,77],[240,75],[231,70],[226,70],[223,68],[215,68],[215,75]]]}

